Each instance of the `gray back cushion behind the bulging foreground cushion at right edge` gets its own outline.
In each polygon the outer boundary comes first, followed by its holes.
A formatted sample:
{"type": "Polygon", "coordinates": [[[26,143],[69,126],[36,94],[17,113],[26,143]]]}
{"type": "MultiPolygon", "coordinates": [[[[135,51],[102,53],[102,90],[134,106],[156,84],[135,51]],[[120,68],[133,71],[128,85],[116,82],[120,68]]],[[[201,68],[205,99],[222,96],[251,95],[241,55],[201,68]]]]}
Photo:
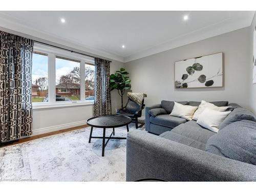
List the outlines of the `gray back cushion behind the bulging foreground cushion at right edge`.
{"type": "Polygon", "coordinates": [[[245,108],[236,108],[220,124],[219,130],[223,129],[228,124],[241,120],[256,121],[256,117],[253,113],[245,108]]]}

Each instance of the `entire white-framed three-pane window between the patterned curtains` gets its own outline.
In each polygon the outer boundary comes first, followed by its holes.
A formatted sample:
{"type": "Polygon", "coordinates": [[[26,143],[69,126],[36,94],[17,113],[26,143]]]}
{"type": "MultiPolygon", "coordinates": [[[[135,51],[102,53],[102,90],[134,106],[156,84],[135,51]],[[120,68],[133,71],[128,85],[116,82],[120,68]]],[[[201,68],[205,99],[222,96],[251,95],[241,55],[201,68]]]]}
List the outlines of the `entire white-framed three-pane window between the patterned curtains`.
{"type": "Polygon", "coordinates": [[[32,61],[33,107],[93,103],[94,58],[35,44],[32,61]]]}

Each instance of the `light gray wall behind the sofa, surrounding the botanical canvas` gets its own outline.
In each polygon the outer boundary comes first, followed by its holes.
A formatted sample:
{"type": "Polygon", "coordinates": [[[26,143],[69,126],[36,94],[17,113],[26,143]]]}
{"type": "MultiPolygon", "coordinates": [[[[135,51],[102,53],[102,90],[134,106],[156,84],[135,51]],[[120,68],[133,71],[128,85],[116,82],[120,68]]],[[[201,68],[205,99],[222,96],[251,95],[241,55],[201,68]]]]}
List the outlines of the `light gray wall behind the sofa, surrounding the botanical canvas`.
{"type": "Polygon", "coordinates": [[[227,100],[249,107],[250,27],[125,63],[133,92],[147,94],[146,105],[161,100],[227,100]],[[175,89],[174,62],[223,52],[222,88],[175,89]]]}

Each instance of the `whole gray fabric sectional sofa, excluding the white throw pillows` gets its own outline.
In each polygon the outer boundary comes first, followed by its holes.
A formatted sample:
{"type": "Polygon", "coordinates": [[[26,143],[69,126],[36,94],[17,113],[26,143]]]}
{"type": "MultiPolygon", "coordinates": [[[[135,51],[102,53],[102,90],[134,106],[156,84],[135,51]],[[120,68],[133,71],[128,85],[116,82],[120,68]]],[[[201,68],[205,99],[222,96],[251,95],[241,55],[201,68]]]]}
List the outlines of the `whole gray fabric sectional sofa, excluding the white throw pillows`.
{"type": "Polygon", "coordinates": [[[146,131],[154,134],[135,130],[127,135],[126,180],[256,181],[255,115],[238,104],[211,103],[232,111],[217,134],[194,120],[169,116],[173,101],[146,107],[146,131]]]}

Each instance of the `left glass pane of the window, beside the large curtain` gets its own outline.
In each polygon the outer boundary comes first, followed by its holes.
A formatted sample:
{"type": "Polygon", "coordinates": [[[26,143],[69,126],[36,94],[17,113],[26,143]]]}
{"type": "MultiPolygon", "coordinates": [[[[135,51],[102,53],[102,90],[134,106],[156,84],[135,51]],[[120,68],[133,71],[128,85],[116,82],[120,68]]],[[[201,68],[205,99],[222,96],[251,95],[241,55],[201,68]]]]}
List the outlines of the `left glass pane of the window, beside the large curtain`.
{"type": "Polygon", "coordinates": [[[32,63],[32,102],[42,102],[48,95],[47,54],[33,53],[32,63]]]}

